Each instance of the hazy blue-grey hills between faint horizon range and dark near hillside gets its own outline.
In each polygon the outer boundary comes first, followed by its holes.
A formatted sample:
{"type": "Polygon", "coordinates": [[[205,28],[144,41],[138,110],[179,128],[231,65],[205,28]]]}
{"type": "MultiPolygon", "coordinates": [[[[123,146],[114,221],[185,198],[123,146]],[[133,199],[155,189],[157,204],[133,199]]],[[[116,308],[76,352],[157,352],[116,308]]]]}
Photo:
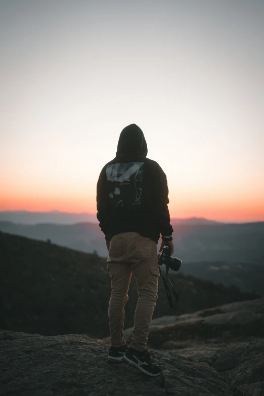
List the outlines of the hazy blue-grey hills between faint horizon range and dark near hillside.
{"type": "MultiPolygon", "coordinates": [[[[231,261],[264,265],[263,222],[177,224],[172,221],[172,225],[175,255],[184,262],[231,261]]],[[[40,240],[49,238],[61,246],[85,252],[97,250],[99,255],[107,256],[104,235],[99,225],[94,223],[30,226],[0,222],[0,230],[40,240]]]]}

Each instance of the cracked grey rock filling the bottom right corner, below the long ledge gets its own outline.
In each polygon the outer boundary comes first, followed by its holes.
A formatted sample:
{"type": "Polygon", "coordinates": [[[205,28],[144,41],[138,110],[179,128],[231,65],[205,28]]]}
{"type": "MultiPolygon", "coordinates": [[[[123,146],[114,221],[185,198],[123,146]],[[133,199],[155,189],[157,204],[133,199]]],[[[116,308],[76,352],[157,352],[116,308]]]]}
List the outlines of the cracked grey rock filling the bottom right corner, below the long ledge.
{"type": "Polygon", "coordinates": [[[169,344],[171,353],[191,362],[206,362],[229,384],[234,396],[264,396],[264,339],[247,342],[219,340],[169,344]]]}

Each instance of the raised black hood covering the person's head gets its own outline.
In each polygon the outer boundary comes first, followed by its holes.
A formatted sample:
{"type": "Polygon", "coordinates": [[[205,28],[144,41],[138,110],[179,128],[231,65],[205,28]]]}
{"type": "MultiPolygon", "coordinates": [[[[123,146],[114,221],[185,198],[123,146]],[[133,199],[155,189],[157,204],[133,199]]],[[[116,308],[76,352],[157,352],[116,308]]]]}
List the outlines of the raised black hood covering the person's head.
{"type": "Polygon", "coordinates": [[[136,124],[126,126],[119,136],[116,156],[129,153],[148,154],[148,147],[144,134],[136,124]]]}

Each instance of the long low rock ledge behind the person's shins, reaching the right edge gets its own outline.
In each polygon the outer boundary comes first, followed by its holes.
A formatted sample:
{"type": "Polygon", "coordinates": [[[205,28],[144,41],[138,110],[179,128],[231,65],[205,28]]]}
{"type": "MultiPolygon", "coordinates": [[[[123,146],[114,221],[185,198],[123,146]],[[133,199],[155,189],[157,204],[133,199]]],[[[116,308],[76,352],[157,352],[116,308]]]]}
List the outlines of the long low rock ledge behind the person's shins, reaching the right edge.
{"type": "MultiPolygon", "coordinates": [[[[130,339],[132,328],[124,331],[130,339]]],[[[215,308],[197,311],[181,316],[164,316],[152,321],[149,344],[153,347],[167,347],[168,342],[221,337],[225,340],[243,339],[264,334],[264,298],[238,301],[215,308]]],[[[226,341],[226,342],[227,342],[226,341]]],[[[105,338],[102,343],[108,343],[105,338]]],[[[170,346],[171,347],[171,346],[170,346]]]]}

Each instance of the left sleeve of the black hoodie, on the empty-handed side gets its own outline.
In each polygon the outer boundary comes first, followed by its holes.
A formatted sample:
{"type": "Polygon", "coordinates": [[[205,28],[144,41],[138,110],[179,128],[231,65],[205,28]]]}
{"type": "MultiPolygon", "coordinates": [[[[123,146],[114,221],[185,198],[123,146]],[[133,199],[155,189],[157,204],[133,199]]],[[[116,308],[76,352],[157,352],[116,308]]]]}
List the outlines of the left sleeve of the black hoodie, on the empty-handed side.
{"type": "Polygon", "coordinates": [[[107,179],[106,179],[106,171],[105,167],[102,169],[98,182],[97,182],[97,194],[96,194],[96,202],[97,202],[97,218],[99,220],[99,227],[105,234],[105,239],[108,241],[107,230],[109,227],[109,201],[107,195],[107,179]]]}

